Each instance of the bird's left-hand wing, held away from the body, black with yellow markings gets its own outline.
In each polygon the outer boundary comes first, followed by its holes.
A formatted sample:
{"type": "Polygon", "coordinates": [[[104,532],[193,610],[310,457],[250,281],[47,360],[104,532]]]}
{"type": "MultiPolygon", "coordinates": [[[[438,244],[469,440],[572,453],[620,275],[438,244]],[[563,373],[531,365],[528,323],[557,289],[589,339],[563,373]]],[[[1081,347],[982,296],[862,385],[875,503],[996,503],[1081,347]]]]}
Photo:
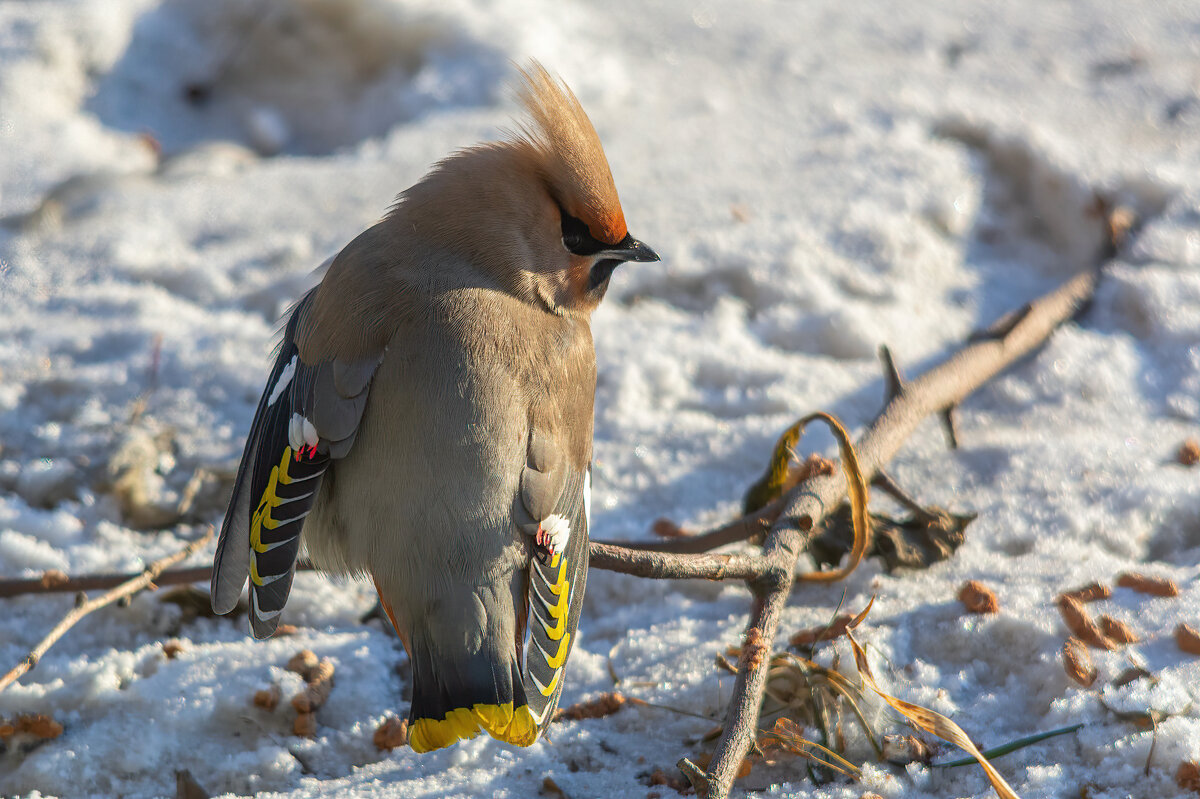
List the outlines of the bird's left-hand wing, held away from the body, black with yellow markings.
{"type": "MultiPolygon", "coordinates": [[[[292,312],[221,525],[212,608],[228,613],[250,577],[250,624],[270,636],[292,589],[300,530],[331,459],[350,451],[382,352],[305,364],[301,325],[318,289],[292,312]]],[[[305,336],[320,335],[305,329],[305,336]]]]}

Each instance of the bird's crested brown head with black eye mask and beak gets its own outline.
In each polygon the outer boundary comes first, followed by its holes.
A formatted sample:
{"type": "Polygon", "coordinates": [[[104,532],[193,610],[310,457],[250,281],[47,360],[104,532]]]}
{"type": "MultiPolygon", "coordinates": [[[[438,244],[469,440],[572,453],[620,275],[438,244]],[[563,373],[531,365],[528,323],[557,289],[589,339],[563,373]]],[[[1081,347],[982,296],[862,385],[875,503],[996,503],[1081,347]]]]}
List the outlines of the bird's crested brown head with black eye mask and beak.
{"type": "Polygon", "coordinates": [[[625,228],[600,137],[574,92],[538,62],[521,78],[528,120],[518,131],[439,163],[395,214],[516,296],[588,314],[617,266],[659,257],[625,228]]]}

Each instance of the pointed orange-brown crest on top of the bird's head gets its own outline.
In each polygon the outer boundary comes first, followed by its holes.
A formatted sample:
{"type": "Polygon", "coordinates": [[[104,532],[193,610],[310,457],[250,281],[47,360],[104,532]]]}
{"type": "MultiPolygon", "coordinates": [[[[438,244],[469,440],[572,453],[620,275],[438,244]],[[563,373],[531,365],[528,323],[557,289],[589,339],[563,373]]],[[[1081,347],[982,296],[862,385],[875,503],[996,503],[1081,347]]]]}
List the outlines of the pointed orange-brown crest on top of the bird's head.
{"type": "Polygon", "coordinates": [[[533,121],[521,125],[521,138],[539,154],[551,193],[593,236],[617,244],[628,233],[625,215],[592,120],[566,84],[544,66],[533,61],[520,72],[517,98],[533,121]]]}

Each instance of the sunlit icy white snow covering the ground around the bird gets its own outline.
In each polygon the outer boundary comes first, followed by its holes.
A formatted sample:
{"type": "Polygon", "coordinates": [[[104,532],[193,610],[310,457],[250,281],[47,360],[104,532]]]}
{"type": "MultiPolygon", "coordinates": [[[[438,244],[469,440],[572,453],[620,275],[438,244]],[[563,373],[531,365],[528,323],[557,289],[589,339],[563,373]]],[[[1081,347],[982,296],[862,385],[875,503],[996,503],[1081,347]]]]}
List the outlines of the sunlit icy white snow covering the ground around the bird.
{"type": "MultiPolygon", "coordinates": [[[[139,485],[157,506],[197,467],[228,473],[312,270],[439,157],[497,137],[508,59],[536,56],[581,96],[631,230],[662,256],[622,269],[594,318],[599,537],[736,513],[802,413],[860,428],[881,402],[880,343],[925,368],[1090,262],[1094,190],[1147,217],[1082,319],[960,409],[960,450],[929,422],[895,459],[923,500],[979,513],[966,546],[922,573],[864,564],[846,607],[877,595],[863,639],[880,681],[984,745],[1087,725],[998,761],[1022,797],[1180,795],[1176,765],[1200,758],[1200,661],[1171,641],[1200,623],[1200,471],[1174,463],[1200,432],[1194,5],[334,7],[0,5],[0,573],[137,570],[218,522],[228,475],[197,494],[191,524],[133,529],[109,459],[149,452],[139,485]],[[1144,643],[1092,653],[1098,685],[1133,660],[1160,678],[1104,695],[1174,714],[1150,776],[1151,733],[1070,684],[1058,655],[1056,594],[1127,569],[1182,589],[1117,590],[1102,609],[1144,643]],[[996,589],[998,615],[962,614],[970,578],[996,589]]],[[[781,635],[828,619],[840,594],[797,588],[781,635]]],[[[0,671],[71,601],[0,601],[0,671]]],[[[371,605],[362,584],[300,575],[283,619],[299,632],[268,642],[156,595],[94,614],[0,696],[0,715],[66,729],[0,755],[0,794],[173,795],[187,769],[230,794],[529,797],[551,775],[576,798],[643,797],[638,775],[701,751],[713,726],[631,707],[529,750],[377,752],[409,674],[378,621],[358,621],[371,605]],[[167,660],[172,635],[184,649],[167,660]],[[284,698],[300,687],[283,665],[305,647],[337,668],[313,740],[290,735],[286,701],[250,704],[271,683],[284,698]]],[[[611,666],[630,696],[715,716],[731,680],[714,655],[748,607],[734,584],[593,573],[563,703],[612,690],[611,666]]],[[[978,769],[880,765],[864,785],[815,787],[791,759],[745,785],[989,795],[978,769]]]]}

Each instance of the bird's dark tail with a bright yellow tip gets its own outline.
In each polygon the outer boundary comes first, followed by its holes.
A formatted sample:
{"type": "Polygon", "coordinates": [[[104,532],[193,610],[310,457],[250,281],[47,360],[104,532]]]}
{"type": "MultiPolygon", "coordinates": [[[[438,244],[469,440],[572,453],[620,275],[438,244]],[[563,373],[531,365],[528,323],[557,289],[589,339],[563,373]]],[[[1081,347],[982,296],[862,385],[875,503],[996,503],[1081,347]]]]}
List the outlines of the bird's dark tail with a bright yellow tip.
{"type": "Polygon", "coordinates": [[[474,654],[445,655],[419,633],[408,654],[413,663],[408,740],[414,751],[450,746],[480,729],[516,746],[538,740],[538,722],[511,655],[491,650],[486,642],[474,654]]]}

